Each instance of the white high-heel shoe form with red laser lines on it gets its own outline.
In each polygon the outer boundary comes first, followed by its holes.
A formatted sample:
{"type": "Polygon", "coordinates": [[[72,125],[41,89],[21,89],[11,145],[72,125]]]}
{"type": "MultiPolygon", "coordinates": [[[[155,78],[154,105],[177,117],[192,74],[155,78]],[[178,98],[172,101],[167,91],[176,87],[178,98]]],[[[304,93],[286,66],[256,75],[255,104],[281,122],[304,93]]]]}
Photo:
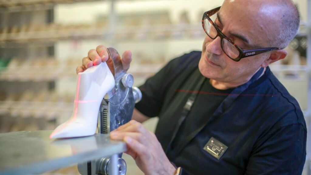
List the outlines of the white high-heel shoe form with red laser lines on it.
{"type": "Polygon", "coordinates": [[[50,138],[82,137],[95,134],[100,103],[114,87],[114,76],[104,62],[78,73],[74,110],[50,138]]]}

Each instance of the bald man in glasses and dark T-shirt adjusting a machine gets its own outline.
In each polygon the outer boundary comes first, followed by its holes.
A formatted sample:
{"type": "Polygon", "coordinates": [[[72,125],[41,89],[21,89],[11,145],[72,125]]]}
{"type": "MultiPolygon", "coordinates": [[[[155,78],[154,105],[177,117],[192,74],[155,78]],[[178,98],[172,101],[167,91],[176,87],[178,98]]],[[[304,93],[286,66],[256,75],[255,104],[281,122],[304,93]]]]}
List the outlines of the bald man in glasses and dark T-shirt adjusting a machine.
{"type": "MultiPolygon", "coordinates": [[[[175,166],[182,174],[301,174],[304,117],[268,67],[285,58],[298,30],[295,5],[225,0],[204,13],[202,24],[202,52],[173,59],[140,87],[133,120],[159,116],[155,135],[130,121],[110,137],[127,143],[145,174],[174,174],[175,166]]],[[[77,73],[107,59],[98,46],[77,73]]],[[[127,70],[130,51],[122,60],[127,70]]]]}

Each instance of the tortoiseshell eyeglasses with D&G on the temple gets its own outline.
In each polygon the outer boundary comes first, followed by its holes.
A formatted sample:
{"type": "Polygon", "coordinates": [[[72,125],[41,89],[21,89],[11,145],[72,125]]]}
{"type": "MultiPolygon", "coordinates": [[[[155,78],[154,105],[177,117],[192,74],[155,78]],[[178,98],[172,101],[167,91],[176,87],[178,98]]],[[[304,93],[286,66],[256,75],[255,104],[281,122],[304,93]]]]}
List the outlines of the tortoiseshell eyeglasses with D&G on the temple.
{"type": "Polygon", "coordinates": [[[221,40],[221,49],[224,51],[224,53],[231,58],[234,61],[239,61],[242,58],[254,56],[258,54],[262,54],[264,52],[272,51],[272,50],[278,50],[277,47],[272,48],[263,48],[263,49],[253,49],[253,50],[242,50],[234,44],[226,35],[224,35],[218,26],[213,22],[215,21],[217,15],[216,13],[219,11],[220,7],[214,8],[212,10],[209,10],[207,12],[204,12],[202,17],[202,27],[205,31],[205,33],[211,38],[216,39],[217,36],[220,37],[221,40]]]}

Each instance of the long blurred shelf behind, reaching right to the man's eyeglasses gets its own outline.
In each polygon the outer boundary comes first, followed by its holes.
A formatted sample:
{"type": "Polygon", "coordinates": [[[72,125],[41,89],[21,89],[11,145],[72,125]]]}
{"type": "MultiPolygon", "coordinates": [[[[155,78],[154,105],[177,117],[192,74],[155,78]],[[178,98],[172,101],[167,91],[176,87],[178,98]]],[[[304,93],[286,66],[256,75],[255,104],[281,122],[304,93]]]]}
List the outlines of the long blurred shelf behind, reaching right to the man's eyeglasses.
{"type": "Polygon", "coordinates": [[[202,38],[205,33],[201,25],[123,26],[114,33],[104,25],[21,26],[2,28],[0,45],[11,43],[49,43],[60,40],[106,39],[124,40],[169,40],[202,38]],[[126,29],[126,30],[124,30],[126,29]]]}

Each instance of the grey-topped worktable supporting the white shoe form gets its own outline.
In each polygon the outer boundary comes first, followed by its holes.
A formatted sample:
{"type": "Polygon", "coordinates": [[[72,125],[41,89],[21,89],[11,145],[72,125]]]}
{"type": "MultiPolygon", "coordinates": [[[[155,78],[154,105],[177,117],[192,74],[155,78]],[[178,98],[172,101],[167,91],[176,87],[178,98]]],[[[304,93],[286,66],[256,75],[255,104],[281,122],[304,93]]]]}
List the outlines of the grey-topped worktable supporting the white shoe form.
{"type": "Polygon", "coordinates": [[[37,174],[112,156],[126,151],[122,141],[108,135],[54,140],[52,131],[0,134],[0,174],[37,174]]]}

